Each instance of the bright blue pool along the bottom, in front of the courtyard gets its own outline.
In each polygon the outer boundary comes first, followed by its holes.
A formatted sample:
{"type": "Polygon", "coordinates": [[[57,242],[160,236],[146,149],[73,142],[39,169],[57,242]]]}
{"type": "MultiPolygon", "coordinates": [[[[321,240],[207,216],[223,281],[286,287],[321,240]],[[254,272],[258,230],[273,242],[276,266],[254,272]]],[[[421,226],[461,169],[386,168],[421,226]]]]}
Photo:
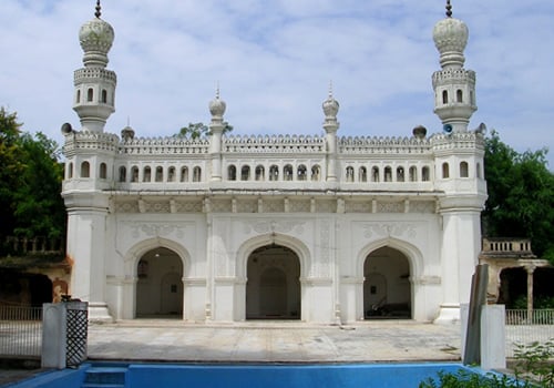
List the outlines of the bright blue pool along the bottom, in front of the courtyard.
{"type": "Polygon", "coordinates": [[[13,388],[368,388],[418,387],[439,371],[482,372],[452,363],[418,364],[84,364],[39,375],[13,388]]]}

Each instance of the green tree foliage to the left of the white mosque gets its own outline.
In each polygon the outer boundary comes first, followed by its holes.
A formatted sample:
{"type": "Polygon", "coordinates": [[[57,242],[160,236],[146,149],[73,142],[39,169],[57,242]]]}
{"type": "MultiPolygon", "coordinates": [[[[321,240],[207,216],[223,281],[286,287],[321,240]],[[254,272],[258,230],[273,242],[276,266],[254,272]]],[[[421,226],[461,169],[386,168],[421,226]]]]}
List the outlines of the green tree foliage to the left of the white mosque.
{"type": "Polygon", "coordinates": [[[58,238],[65,231],[58,144],[21,131],[16,113],[0,108],[0,238],[58,238]]]}

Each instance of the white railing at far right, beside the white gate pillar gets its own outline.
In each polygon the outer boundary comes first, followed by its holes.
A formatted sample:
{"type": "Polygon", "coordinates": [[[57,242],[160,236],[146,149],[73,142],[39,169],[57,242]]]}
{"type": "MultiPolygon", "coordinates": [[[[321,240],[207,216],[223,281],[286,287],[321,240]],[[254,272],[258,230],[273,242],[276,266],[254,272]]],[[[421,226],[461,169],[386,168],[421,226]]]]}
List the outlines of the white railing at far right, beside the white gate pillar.
{"type": "Polygon", "coordinates": [[[554,338],[554,309],[506,309],[506,357],[514,357],[515,344],[545,343],[554,338]]]}

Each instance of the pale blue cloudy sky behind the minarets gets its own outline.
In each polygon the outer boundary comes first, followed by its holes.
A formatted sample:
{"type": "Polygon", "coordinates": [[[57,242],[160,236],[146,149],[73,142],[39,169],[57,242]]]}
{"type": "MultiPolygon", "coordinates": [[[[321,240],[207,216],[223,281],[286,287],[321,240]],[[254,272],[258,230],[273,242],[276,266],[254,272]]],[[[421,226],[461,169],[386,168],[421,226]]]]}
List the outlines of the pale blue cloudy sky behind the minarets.
{"type": "MultiPolygon", "coordinates": [[[[433,114],[431,33],[442,0],[117,0],[102,3],[115,30],[109,69],[116,112],[138,136],[165,136],[209,122],[217,83],[236,134],[322,133],[321,102],[332,80],[339,135],[409,136],[433,114]]],[[[554,2],[452,0],[470,29],[465,68],[478,74],[484,122],[517,151],[546,146],[554,170],[554,2]]],[[[93,0],[2,0],[0,105],[24,130],[62,142],[82,67],[81,24],[93,0]]]]}

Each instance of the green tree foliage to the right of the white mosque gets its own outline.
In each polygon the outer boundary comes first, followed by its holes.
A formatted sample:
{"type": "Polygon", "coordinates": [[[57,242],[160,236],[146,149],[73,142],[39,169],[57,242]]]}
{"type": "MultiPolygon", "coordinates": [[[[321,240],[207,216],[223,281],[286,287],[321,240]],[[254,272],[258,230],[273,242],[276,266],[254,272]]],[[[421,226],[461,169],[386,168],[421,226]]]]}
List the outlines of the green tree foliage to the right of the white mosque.
{"type": "Polygon", "coordinates": [[[489,198],[483,232],[494,237],[529,237],[534,253],[554,263],[554,174],[547,150],[519,153],[493,131],[485,142],[489,198]]]}

